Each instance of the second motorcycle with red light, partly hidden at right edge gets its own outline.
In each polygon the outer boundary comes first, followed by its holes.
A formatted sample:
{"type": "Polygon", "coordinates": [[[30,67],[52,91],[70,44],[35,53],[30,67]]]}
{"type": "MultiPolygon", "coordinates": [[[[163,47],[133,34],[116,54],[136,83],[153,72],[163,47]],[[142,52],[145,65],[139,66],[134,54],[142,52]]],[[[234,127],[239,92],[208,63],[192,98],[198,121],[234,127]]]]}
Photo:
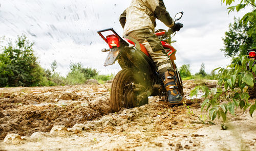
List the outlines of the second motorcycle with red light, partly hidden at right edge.
{"type": "MultiPolygon", "coordinates": [[[[247,63],[246,68],[247,70],[249,70],[250,72],[252,72],[252,70],[250,69],[250,64],[251,66],[254,66],[256,64],[255,60],[256,60],[256,49],[248,49],[247,50],[247,58],[251,59],[250,62],[247,63]]],[[[253,73],[253,78],[256,79],[256,75],[255,73],[253,73]]],[[[250,95],[250,98],[256,98],[256,85],[254,84],[253,88],[249,87],[248,88],[248,94],[250,95]]]]}

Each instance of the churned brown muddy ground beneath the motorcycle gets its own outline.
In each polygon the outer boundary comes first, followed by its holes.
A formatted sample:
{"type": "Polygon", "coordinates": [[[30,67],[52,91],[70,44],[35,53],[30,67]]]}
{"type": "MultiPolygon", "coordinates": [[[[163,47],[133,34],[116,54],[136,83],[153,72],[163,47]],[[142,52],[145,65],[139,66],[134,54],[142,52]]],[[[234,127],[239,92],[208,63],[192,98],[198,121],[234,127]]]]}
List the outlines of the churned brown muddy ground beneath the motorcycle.
{"type": "MultiPolygon", "coordinates": [[[[197,84],[183,85],[187,96],[197,84]]],[[[0,88],[0,150],[256,150],[255,113],[228,115],[225,131],[201,112],[201,99],[169,107],[150,97],[111,113],[110,87],[0,88]]]]}

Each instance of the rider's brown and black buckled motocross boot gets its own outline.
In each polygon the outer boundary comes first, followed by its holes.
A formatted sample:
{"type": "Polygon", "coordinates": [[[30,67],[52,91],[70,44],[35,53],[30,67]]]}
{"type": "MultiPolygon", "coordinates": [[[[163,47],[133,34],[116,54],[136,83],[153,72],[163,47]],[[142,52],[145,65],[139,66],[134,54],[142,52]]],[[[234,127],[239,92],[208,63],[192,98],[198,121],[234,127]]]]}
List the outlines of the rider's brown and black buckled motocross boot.
{"type": "Polygon", "coordinates": [[[168,103],[170,104],[182,104],[183,97],[178,92],[177,79],[173,71],[165,71],[161,74],[161,78],[164,83],[164,87],[168,95],[168,103]]]}

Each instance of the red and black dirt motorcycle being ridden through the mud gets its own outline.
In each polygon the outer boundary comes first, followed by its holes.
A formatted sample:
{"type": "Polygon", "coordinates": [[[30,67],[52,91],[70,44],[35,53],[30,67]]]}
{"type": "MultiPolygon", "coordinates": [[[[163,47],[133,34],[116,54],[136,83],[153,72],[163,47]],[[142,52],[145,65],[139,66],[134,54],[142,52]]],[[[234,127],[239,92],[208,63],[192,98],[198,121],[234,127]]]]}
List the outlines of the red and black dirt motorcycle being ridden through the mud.
{"type": "MultiPolygon", "coordinates": [[[[175,15],[175,21],[180,20],[183,12],[175,15]]],[[[112,65],[116,61],[121,66],[112,83],[110,95],[110,107],[112,112],[118,112],[122,108],[134,108],[148,103],[148,96],[158,96],[167,99],[167,92],[161,80],[156,64],[151,59],[146,48],[132,37],[120,37],[112,28],[98,31],[101,38],[109,44],[110,49],[102,49],[109,52],[104,66],[112,65]],[[105,36],[104,36],[105,35],[105,36]]],[[[176,31],[169,29],[158,30],[155,34],[160,39],[166,54],[172,61],[172,66],[177,77],[178,91],[183,94],[182,80],[177,66],[176,49],[170,45],[172,34],[176,31]]]]}

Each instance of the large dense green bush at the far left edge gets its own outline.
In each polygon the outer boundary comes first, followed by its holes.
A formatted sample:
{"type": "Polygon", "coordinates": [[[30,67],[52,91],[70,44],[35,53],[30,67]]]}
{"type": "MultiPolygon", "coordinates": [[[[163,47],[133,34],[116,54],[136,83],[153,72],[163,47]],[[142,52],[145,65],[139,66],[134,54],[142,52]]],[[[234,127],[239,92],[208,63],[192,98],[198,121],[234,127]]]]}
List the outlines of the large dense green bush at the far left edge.
{"type": "Polygon", "coordinates": [[[25,35],[17,38],[16,45],[8,41],[0,54],[0,87],[40,85],[44,71],[32,46],[25,35]]]}

